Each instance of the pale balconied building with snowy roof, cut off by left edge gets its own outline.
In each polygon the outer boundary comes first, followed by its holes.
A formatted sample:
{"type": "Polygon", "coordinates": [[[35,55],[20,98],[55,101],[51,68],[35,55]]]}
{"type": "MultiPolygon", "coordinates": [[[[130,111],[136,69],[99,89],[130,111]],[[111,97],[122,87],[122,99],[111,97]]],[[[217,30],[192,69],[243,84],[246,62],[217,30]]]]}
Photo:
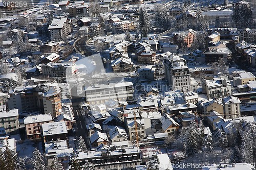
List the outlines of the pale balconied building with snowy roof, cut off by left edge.
{"type": "Polygon", "coordinates": [[[6,133],[15,133],[19,129],[18,109],[0,112],[0,125],[6,133]]]}

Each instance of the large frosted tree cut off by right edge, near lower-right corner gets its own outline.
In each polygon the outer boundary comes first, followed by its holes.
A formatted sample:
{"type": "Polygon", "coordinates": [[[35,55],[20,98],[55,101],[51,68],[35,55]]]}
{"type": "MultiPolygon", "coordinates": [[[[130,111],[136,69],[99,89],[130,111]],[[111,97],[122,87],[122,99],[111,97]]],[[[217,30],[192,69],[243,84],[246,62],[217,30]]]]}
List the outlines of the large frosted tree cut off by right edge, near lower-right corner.
{"type": "Polygon", "coordinates": [[[242,160],[250,162],[256,160],[256,125],[248,123],[242,136],[242,160]]]}

